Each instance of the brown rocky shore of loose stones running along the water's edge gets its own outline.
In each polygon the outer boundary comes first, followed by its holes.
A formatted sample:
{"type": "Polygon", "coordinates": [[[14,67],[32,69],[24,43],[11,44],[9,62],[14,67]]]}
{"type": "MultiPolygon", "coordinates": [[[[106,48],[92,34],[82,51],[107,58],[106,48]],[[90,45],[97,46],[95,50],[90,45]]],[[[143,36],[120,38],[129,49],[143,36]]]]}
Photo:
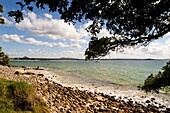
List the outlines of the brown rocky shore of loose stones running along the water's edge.
{"type": "Polygon", "coordinates": [[[131,97],[109,96],[78,88],[65,87],[45,75],[45,70],[0,66],[0,77],[25,81],[36,88],[51,113],[170,113],[170,108],[155,102],[154,98],[140,104],[131,97]]]}

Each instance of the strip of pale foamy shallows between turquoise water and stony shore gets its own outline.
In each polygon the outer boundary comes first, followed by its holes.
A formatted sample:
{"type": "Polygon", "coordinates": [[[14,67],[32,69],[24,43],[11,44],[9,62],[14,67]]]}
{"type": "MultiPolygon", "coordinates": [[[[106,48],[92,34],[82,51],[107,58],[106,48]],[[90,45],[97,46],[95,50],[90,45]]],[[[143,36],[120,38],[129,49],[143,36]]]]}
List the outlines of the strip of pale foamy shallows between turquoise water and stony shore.
{"type": "Polygon", "coordinates": [[[65,87],[78,88],[79,90],[86,90],[93,93],[104,93],[109,96],[115,96],[115,98],[131,99],[137,103],[147,106],[148,104],[154,104],[155,106],[164,105],[170,108],[170,98],[166,94],[152,94],[145,93],[144,91],[138,90],[137,88],[128,86],[118,86],[118,85],[109,85],[102,83],[75,83],[75,81],[67,81],[63,76],[60,76],[57,73],[52,71],[46,71],[46,77],[53,82],[61,84],[65,87]],[[124,98],[125,97],[125,98],[124,98]],[[147,103],[147,100],[151,100],[151,103],[147,103]]]}

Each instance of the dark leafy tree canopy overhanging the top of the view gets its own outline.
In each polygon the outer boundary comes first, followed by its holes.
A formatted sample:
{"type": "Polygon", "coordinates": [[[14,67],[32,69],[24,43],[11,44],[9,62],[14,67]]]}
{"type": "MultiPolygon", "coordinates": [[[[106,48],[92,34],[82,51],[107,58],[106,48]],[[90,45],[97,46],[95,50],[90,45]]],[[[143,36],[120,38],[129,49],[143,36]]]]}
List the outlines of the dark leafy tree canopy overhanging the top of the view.
{"type": "Polygon", "coordinates": [[[24,8],[33,11],[35,6],[59,12],[66,22],[93,21],[87,28],[92,38],[86,59],[128,46],[148,45],[170,31],[170,0],[23,0],[16,4],[21,9],[9,12],[16,22],[23,20],[24,8]],[[96,37],[103,28],[112,36],[96,37]]]}

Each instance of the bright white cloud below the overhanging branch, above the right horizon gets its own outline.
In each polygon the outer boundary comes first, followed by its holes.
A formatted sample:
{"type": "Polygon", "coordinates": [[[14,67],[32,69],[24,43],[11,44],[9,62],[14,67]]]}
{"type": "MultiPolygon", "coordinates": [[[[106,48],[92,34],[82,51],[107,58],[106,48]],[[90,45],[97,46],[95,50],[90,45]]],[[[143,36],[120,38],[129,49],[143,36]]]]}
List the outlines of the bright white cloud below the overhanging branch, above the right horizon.
{"type": "MultiPolygon", "coordinates": [[[[148,46],[126,48],[124,52],[111,52],[112,58],[169,58],[170,38],[165,42],[155,41],[148,46]]],[[[108,56],[107,56],[108,57],[108,56]]],[[[107,58],[106,57],[106,58],[107,58]]]]}

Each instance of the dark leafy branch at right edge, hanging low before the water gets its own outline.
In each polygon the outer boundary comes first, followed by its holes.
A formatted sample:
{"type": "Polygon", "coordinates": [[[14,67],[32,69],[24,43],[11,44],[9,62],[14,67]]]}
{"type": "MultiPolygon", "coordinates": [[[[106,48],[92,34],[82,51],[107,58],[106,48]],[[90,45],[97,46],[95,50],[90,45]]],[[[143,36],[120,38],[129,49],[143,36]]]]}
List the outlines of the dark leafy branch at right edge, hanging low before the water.
{"type": "Polygon", "coordinates": [[[166,66],[162,68],[163,72],[158,72],[155,76],[151,74],[145,80],[144,85],[140,85],[139,89],[145,90],[146,92],[156,92],[170,86],[170,61],[167,62],[166,66]]]}

